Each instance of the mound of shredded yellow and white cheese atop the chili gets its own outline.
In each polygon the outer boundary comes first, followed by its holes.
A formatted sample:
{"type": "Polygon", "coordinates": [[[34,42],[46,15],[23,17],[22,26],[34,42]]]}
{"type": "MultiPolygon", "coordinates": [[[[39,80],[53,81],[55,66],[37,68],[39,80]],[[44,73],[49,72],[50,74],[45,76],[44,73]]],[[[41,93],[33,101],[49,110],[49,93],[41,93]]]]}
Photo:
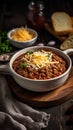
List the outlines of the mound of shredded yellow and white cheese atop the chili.
{"type": "Polygon", "coordinates": [[[52,52],[38,50],[32,53],[26,53],[22,60],[24,60],[28,66],[31,65],[37,69],[49,64],[59,63],[58,61],[52,61],[52,55],[52,52]]]}

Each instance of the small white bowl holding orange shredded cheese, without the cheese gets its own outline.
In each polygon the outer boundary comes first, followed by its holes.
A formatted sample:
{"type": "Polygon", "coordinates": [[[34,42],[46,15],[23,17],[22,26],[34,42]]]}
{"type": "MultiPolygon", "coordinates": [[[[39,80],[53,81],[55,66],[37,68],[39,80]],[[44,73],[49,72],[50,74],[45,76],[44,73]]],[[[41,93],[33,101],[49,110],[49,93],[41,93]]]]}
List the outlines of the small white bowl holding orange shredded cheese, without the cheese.
{"type": "Polygon", "coordinates": [[[36,42],[36,40],[38,38],[38,33],[35,30],[30,29],[30,28],[27,28],[28,31],[31,32],[32,34],[34,34],[34,37],[31,40],[27,40],[27,41],[16,41],[16,40],[12,39],[11,34],[14,33],[17,29],[19,29],[19,28],[12,29],[12,30],[10,30],[7,33],[7,38],[10,40],[10,43],[13,46],[15,46],[17,48],[25,48],[25,47],[33,45],[36,42]]]}

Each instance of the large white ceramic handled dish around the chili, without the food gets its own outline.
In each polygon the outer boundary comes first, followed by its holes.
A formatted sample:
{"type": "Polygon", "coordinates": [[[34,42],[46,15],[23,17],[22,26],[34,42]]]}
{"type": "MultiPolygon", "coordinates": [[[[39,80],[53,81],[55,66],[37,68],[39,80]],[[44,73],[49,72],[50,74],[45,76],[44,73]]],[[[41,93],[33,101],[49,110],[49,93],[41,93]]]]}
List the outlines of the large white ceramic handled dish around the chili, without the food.
{"type": "Polygon", "coordinates": [[[34,47],[28,47],[25,49],[22,49],[20,51],[18,51],[17,53],[15,53],[10,62],[9,65],[6,66],[2,66],[3,71],[7,71],[9,72],[13,78],[15,79],[15,81],[23,88],[27,89],[27,90],[31,90],[31,91],[35,91],[35,92],[46,92],[46,91],[51,91],[54,90],[58,87],[60,87],[61,85],[63,85],[66,80],[68,79],[68,76],[70,74],[71,71],[71,67],[72,67],[72,61],[70,59],[70,57],[67,55],[68,53],[73,52],[73,49],[68,49],[65,50],[64,52],[53,48],[53,47],[47,47],[47,46],[34,46],[34,47]],[[19,74],[17,74],[14,69],[12,68],[12,64],[14,62],[14,60],[21,54],[29,51],[29,50],[33,50],[33,49],[38,49],[38,48],[47,48],[52,50],[53,52],[57,53],[58,55],[62,56],[67,64],[68,64],[68,69],[65,71],[65,73],[63,73],[62,75],[55,77],[55,78],[51,78],[51,79],[46,79],[46,80],[34,80],[34,79],[29,79],[29,78],[25,78],[19,74]]]}

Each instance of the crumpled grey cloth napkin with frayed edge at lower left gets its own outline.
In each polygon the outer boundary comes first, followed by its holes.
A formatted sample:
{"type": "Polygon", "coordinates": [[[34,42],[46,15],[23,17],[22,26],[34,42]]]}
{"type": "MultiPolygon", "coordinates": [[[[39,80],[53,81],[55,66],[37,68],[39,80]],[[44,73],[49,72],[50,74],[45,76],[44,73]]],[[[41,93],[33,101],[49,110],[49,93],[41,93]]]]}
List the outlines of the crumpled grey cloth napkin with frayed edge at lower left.
{"type": "Polygon", "coordinates": [[[50,114],[16,100],[4,75],[0,75],[0,130],[41,130],[50,114]]]}

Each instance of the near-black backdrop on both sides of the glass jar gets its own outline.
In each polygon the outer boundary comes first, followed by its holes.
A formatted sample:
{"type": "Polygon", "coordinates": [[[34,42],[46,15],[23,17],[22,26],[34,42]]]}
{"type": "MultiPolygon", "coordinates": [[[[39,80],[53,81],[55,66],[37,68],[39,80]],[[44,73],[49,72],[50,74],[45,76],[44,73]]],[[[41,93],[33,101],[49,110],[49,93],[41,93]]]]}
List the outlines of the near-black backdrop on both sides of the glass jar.
{"type": "MultiPolygon", "coordinates": [[[[25,25],[28,4],[31,0],[2,0],[0,3],[0,29],[10,29],[25,25]]],[[[34,0],[37,1],[37,0],[34,0]]],[[[73,0],[41,0],[44,2],[44,15],[49,20],[55,11],[65,11],[73,16],[73,0]]]]}

